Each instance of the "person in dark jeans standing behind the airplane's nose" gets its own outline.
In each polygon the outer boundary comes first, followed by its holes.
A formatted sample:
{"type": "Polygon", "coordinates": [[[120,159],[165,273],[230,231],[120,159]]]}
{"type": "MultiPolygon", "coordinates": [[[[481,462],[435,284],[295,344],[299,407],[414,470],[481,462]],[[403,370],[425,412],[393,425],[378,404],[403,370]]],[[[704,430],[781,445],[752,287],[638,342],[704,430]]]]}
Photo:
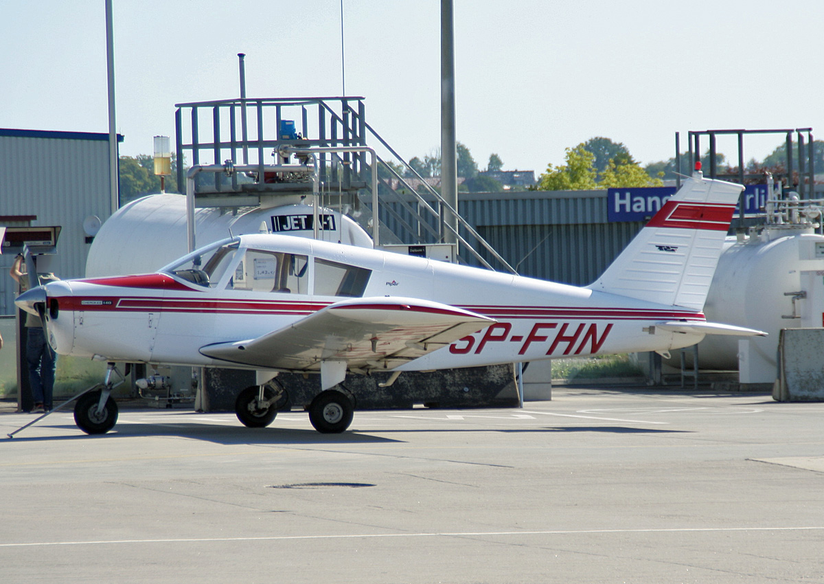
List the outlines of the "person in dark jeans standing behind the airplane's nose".
{"type": "MultiPolygon", "coordinates": [[[[23,256],[14,258],[11,270],[12,278],[20,286],[20,293],[29,290],[29,276],[23,256]]],[[[54,274],[40,276],[39,284],[59,280],[54,274]]],[[[35,406],[31,413],[49,412],[52,408],[54,393],[54,372],[57,370],[57,355],[52,351],[39,316],[26,313],[26,361],[29,365],[29,384],[35,406]]]]}

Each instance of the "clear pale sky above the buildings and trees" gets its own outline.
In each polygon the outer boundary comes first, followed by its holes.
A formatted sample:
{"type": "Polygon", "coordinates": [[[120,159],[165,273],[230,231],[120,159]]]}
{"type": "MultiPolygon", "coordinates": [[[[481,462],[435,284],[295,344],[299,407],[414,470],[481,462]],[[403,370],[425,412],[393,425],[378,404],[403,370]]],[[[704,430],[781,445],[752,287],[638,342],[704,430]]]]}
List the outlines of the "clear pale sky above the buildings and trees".
{"type": "MultiPolygon", "coordinates": [[[[346,93],[406,159],[440,144],[440,1],[343,0],[346,93]]],[[[675,132],[824,136],[822,0],[454,0],[457,138],[480,167],[543,172],[593,136],[640,162],[675,132]]],[[[104,0],[0,0],[0,127],[108,131],[104,0]]],[[[174,136],[175,104],[339,96],[340,0],[114,0],[126,155],[174,136]]],[[[783,137],[747,138],[764,158],[783,137]]],[[[719,150],[736,156],[733,141],[719,150]]]]}

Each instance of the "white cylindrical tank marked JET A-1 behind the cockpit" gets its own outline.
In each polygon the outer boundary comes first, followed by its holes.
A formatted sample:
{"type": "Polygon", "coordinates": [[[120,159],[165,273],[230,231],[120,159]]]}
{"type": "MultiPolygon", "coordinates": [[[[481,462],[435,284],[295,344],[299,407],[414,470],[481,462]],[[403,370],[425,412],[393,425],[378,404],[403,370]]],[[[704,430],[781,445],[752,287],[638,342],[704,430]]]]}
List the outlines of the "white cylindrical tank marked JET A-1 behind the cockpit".
{"type": "MultiPolygon", "coordinates": [[[[353,219],[321,209],[320,238],[324,241],[372,247],[372,238],[353,219]]],[[[313,208],[282,205],[256,208],[242,214],[215,208],[194,212],[197,247],[262,229],[311,238],[313,208]]],[[[86,261],[86,276],[120,276],[157,271],[188,252],[185,195],[148,195],[124,205],[97,232],[86,261]]]]}

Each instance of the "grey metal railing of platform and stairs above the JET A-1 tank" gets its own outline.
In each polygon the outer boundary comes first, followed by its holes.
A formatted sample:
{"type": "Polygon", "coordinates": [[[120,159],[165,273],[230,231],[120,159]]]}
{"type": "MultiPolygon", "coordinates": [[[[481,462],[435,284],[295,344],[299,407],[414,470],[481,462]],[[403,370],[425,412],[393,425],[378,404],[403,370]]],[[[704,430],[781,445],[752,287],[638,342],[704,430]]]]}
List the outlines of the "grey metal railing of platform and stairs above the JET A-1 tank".
{"type": "MultiPolygon", "coordinates": [[[[360,205],[358,203],[357,192],[360,188],[368,188],[368,184],[358,177],[362,176],[363,172],[372,172],[370,164],[365,160],[364,148],[367,148],[367,138],[376,139],[386,151],[391,153],[391,156],[396,158],[400,164],[408,169],[408,174],[411,177],[420,181],[424,188],[424,193],[420,193],[410,186],[407,177],[401,176],[396,168],[387,163],[379,156],[374,157],[374,164],[382,170],[386,170],[392,179],[398,181],[398,185],[403,186],[414,197],[409,200],[404,195],[401,195],[396,188],[392,186],[392,180],[380,178],[386,191],[393,195],[394,200],[402,207],[409,217],[412,219],[411,224],[404,219],[391,205],[381,205],[381,200],[377,196],[378,193],[372,193],[372,221],[373,229],[377,229],[380,224],[380,216],[384,214],[386,217],[391,217],[396,222],[399,228],[406,229],[410,233],[410,237],[417,240],[417,243],[423,241],[423,234],[426,233],[428,237],[433,238],[436,242],[442,241],[445,233],[452,233],[456,237],[456,241],[466,249],[466,252],[475,257],[481,265],[489,269],[494,269],[480,253],[480,247],[487,252],[488,257],[494,258],[503,268],[509,272],[516,273],[514,268],[508,264],[503,257],[500,256],[494,248],[486,242],[486,240],[473,228],[456,209],[452,208],[442,195],[433,188],[424,177],[421,177],[419,172],[415,171],[410,164],[406,162],[396,152],[394,148],[382,138],[377,131],[369,125],[365,119],[365,109],[363,106],[363,97],[290,97],[290,98],[236,98],[218,101],[198,101],[186,102],[176,104],[176,148],[180,164],[178,165],[178,184],[184,185],[184,160],[185,153],[191,153],[191,164],[193,166],[201,166],[201,158],[213,158],[213,164],[219,165],[227,160],[231,160],[232,164],[238,165],[238,158],[242,156],[242,166],[249,168],[256,168],[252,175],[255,181],[264,183],[265,169],[273,165],[265,159],[266,152],[271,148],[271,153],[274,156],[274,165],[283,164],[286,160],[280,159],[282,155],[279,152],[285,152],[284,147],[300,148],[302,150],[316,150],[317,151],[317,173],[318,180],[322,183],[327,183],[327,178],[333,169],[341,172],[343,177],[341,185],[349,195],[354,198],[351,203],[360,205]],[[339,101],[340,110],[335,109],[330,105],[330,102],[339,101]],[[310,137],[309,132],[309,111],[312,107],[316,107],[316,124],[317,131],[312,133],[310,137]],[[241,115],[237,115],[238,108],[241,108],[241,115]],[[275,138],[271,138],[271,109],[274,108],[274,122],[275,122],[275,138]],[[297,119],[300,119],[299,139],[295,135],[283,135],[281,132],[283,121],[284,108],[299,108],[300,111],[295,116],[294,123],[297,130],[297,119]],[[185,141],[184,135],[184,110],[190,110],[188,123],[190,125],[190,139],[185,141]],[[204,115],[199,115],[203,111],[204,115]],[[248,115],[245,115],[248,112],[248,115]],[[208,120],[211,118],[211,120],[208,120]],[[228,118],[228,120],[227,120],[228,118]],[[241,129],[238,127],[238,118],[244,120],[244,125],[241,129]],[[248,136],[246,128],[246,120],[251,119],[250,125],[253,126],[252,136],[248,136]],[[228,131],[226,122],[228,121],[228,131]],[[208,123],[211,122],[211,123],[208,123]],[[269,128],[269,131],[265,131],[269,128]],[[204,130],[204,134],[211,134],[209,139],[205,141],[200,140],[199,133],[204,130]],[[246,138],[244,138],[246,137],[246,138]],[[330,148],[338,148],[339,153],[332,153],[330,148]],[[340,150],[344,150],[341,152],[340,150]],[[250,156],[251,155],[251,156],[250,156]],[[249,161],[249,158],[256,158],[256,161],[249,161]],[[335,164],[339,162],[339,164],[335,164]],[[353,182],[358,181],[357,183],[353,182]],[[424,196],[428,195],[428,196],[424,196]],[[428,200],[428,197],[434,200],[434,206],[428,200]],[[377,204],[375,201],[377,200],[377,204]],[[413,205],[411,203],[417,203],[413,205]],[[457,228],[453,227],[443,220],[443,210],[449,210],[457,217],[457,228]],[[429,218],[429,219],[427,219],[429,218]],[[434,226],[433,226],[434,225],[434,226]],[[459,231],[461,233],[459,233],[459,231]],[[463,234],[462,234],[463,233],[463,234]],[[466,235],[466,237],[465,237],[466,235]],[[467,238],[475,243],[472,245],[467,238]]],[[[407,173],[405,173],[407,174],[407,173]]],[[[340,177],[340,175],[338,175],[340,177]]],[[[225,177],[221,173],[214,173],[214,191],[228,192],[249,189],[249,186],[238,185],[237,175],[232,175],[231,186],[225,184],[225,177]]],[[[211,189],[211,187],[209,187],[211,189]]],[[[258,189],[260,191],[260,189],[258,189]]],[[[370,189],[371,190],[371,189],[370,189]]],[[[376,189],[377,191],[377,189],[376,189]]],[[[381,198],[385,198],[386,194],[381,198]]],[[[460,257],[460,249],[458,257],[460,257]]]]}

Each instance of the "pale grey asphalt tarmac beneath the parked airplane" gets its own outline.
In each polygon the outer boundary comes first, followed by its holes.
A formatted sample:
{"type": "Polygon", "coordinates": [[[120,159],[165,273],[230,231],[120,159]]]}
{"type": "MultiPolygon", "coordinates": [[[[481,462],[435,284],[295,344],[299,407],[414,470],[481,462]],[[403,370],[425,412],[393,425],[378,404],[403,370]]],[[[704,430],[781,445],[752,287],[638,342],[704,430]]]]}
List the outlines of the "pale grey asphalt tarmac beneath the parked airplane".
{"type": "MultiPolygon", "coordinates": [[[[0,414],[6,436],[30,414],[0,414]]],[[[57,412],[0,440],[0,582],[824,582],[824,403],[558,389],[522,410],[57,412]]]]}

